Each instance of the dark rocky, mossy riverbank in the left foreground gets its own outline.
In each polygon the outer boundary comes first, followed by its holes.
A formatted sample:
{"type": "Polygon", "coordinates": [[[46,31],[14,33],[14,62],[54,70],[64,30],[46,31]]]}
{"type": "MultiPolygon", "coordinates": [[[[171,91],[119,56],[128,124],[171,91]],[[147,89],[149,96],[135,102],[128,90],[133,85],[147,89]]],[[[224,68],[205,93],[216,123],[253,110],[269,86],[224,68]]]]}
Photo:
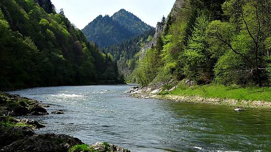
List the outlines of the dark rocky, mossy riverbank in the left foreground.
{"type": "Polygon", "coordinates": [[[48,115],[47,105],[40,101],[0,92],[0,151],[1,152],[130,152],[108,143],[87,145],[67,135],[36,134],[45,127],[35,120],[16,119],[24,115],[48,115]],[[82,146],[83,145],[83,146],[82,146]]]}

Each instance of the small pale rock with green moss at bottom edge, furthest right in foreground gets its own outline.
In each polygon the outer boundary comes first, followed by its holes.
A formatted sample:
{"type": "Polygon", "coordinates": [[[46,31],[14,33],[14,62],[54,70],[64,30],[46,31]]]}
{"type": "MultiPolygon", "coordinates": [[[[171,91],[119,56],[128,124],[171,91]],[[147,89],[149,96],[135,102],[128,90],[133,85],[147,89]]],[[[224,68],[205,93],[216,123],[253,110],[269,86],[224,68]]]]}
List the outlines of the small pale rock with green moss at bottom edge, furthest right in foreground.
{"type": "Polygon", "coordinates": [[[93,147],[94,150],[99,151],[99,152],[130,152],[127,149],[123,149],[121,147],[118,147],[113,144],[108,144],[108,143],[97,142],[94,145],[90,145],[90,147],[93,147]]]}

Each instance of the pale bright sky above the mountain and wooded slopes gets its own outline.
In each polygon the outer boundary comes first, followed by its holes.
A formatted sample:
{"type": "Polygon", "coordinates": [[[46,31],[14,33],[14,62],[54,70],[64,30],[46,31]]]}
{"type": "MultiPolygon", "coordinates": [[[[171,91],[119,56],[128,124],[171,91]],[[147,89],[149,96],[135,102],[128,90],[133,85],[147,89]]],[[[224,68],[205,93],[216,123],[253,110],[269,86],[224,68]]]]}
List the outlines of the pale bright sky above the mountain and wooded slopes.
{"type": "Polygon", "coordinates": [[[64,14],[79,29],[84,28],[98,15],[113,15],[125,9],[145,23],[156,27],[163,15],[166,17],[175,0],[51,0],[57,10],[64,14]]]}

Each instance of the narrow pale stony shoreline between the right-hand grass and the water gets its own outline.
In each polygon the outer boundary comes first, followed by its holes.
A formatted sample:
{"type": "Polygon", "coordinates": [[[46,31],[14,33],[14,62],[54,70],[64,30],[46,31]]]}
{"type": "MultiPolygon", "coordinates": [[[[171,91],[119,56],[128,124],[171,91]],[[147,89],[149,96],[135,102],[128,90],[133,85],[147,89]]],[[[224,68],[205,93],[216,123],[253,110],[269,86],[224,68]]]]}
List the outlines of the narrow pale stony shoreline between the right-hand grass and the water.
{"type": "MultiPolygon", "coordinates": [[[[154,90],[155,92],[155,90],[154,90]]],[[[180,95],[159,95],[158,93],[151,93],[142,91],[139,89],[134,93],[131,92],[129,97],[136,98],[152,98],[158,100],[170,100],[174,102],[185,102],[205,105],[216,105],[216,106],[228,106],[228,107],[240,107],[245,109],[265,109],[271,110],[271,102],[268,101],[249,101],[249,100],[236,100],[230,98],[211,98],[201,96],[180,96],[180,95]]]]}

